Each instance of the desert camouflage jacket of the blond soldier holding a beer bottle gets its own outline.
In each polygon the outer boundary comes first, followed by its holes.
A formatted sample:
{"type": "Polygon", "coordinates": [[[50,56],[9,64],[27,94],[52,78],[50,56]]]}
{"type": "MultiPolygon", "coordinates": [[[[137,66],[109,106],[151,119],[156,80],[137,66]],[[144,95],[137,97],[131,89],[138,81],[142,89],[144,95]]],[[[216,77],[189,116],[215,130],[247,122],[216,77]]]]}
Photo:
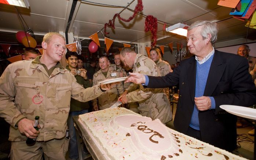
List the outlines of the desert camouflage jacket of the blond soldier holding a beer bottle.
{"type": "Polygon", "coordinates": [[[23,118],[34,120],[35,116],[40,116],[41,127],[37,141],[64,137],[70,98],[89,101],[103,93],[98,85],[84,89],[63,67],[55,67],[49,76],[36,60],[12,63],[0,77],[0,116],[11,124],[10,141],[26,140],[15,124],[23,118]]]}

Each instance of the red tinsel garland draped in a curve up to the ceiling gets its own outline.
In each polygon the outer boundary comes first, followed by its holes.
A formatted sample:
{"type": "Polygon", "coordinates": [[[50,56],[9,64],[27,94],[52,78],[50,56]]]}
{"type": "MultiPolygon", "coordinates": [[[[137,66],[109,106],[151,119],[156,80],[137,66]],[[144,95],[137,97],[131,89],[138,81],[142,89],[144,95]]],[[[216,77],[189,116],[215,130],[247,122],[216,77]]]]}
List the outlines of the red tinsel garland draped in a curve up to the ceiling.
{"type": "Polygon", "coordinates": [[[118,17],[118,19],[121,20],[121,21],[130,22],[132,19],[134,19],[135,15],[140,11],[143,11],[142,0],[138,0],[138,3],[137,3],[137,5],[135,6],[135,9],[134,9],[134,14],[132,16],[130,16],[128,19],[121,18],[120,14],[118,14],[118,13],[115,14],[113,16],[113,19],[109,20],[109,23],[105,23],[105,25],[104,25],[104,34],[105,34],[105,36],[107,34],[109,34],[109,32],[106,31],[107,27],[111,27],[112,29],[115,29],[115,19],[116,19],[116,17],[118,17]]]}

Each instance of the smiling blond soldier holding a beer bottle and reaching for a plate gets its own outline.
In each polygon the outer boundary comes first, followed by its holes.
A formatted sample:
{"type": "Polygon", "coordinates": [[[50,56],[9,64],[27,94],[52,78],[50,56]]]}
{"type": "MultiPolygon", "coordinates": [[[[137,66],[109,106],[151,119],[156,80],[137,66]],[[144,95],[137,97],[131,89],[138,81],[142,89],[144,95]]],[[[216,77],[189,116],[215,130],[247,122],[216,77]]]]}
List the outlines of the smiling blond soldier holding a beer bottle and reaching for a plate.
{"type": "Polygon", "coordinates": [[[58,61],[66,49],[61,34],[47,33],[42,48],[42,56],[12,63],[0,77],[0,116],[11,124],[11,160],[40,160],[43,154],[45,159],[65,159],[70,98],[85,102],[111,88],[96,85],[84,89],[61,66],[58,61]],[[39,131],[33,127],[35,116],[40,116],[39,131]],[[27,146],[27,137],[37,137],[36,143],[27,146]]]}

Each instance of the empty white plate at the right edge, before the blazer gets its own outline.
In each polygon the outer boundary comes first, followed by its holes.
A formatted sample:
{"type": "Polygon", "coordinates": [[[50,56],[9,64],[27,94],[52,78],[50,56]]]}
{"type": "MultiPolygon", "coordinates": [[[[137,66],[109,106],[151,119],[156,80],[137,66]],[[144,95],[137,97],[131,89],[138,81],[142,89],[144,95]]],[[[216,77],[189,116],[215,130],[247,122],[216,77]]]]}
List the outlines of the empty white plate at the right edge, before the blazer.
{"type": "Polygon", "coordinates": [[[220,108],[233,115],[256,120],[255,108],[242,107],[237,105],[220,105],[220,108]]]}

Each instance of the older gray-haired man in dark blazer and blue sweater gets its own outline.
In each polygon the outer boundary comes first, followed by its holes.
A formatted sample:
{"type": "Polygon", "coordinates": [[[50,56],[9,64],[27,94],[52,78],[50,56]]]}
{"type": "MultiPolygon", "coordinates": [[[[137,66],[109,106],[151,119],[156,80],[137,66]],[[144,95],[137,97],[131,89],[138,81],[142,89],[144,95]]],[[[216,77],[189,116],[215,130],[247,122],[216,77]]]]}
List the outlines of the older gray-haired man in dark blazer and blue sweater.
{"type": "Polygon", "coordinates": [[[231,152],[236,147],[237,118],[220,105],[249,107],[256,103],[256,88],[247,60],[215,50],[212,45],[216,40],[216,23],[197,21],[187,33],[187,46],[194,56],[182,60],[164,77],[131,73],[126,82],[145,83],[147,88],[179,84],[175,129],[231,152]]]}

